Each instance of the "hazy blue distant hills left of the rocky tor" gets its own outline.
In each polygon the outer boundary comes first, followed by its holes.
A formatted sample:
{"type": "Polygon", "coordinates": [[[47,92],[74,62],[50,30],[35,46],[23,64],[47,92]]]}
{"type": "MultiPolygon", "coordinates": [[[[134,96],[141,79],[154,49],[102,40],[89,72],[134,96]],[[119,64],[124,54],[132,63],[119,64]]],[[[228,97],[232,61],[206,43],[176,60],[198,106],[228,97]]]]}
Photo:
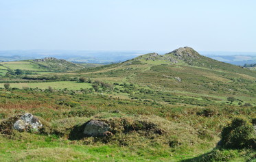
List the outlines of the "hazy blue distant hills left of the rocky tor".
{"type": "Polygon", "coordinates": [[[27,50],[0,51],[0,62],[55,57],[73,63],[110,64],[124,62],[148,51],[70,51],[70,50],[27,50]]]}

